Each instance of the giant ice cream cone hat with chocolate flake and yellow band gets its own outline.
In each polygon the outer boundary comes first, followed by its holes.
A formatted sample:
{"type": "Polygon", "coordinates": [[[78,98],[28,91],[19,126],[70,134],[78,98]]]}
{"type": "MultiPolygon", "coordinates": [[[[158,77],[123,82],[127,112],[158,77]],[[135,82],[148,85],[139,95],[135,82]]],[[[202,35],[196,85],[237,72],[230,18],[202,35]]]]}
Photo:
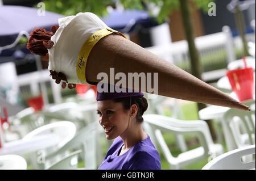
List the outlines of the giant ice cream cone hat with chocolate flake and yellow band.
{"type": "MultiPolygon", "coordinates": [[[[39,30],[31,33],[28,48],[41,56],[47,56],[48,52],[48,69],[64,73],[71,83],[95,85],[101,81],[97,78],[99,73],[113,76],[110,68],[127,77],[129,73],[144,73],[151,82],[155,80],[148,73],[158,73],[159,95],[249,110],[224,92],[127,40],[90,12],[59,19],[57,30],[44,31],[47,36],[38,34],[39,30]]],[[[149,92],[142,84],[127,84],[127,88],[149,92]]]]}

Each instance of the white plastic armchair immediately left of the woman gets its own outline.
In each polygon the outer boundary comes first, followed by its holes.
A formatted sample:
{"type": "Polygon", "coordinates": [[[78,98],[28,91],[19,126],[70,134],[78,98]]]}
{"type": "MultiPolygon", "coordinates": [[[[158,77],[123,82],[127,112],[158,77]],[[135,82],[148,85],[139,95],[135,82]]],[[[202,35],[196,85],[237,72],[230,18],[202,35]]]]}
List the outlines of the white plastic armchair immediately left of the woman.
{"type": "Polygon", "coordinates": [[[72,138],[62,148],[52,154],[47,155],[47,159],[52,159],[58,155],[63,155],[69,150],[81,149],[82,160],[85,162],[85,169],[96,169],[97,167],[97,123],[91,123],[81,128],[76,136],[72,138]]]}

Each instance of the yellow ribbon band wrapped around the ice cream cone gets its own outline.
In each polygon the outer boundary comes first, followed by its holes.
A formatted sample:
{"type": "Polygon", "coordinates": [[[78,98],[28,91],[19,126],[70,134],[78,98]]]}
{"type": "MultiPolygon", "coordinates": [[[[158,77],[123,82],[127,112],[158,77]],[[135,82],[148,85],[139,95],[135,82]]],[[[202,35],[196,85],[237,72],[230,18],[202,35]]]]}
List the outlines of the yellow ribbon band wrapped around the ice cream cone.
{"type": "Polygon", "coordinates": [[[84,45],[82,45],[82,48],[80,49],[79,56],[77,57],[77,62],[76,62],[76,74],[81,82],[86,83],[85,68],[86,68],[86,62],[89,57],[90,51],[93,49],[94,45],[96,45],[96,43],[100,39],[102,39],[102,37],[110,35],[111,33],[117,33],[118,35],[121,35],[126,38],[125,35],[123,35],[118,31],[112,30],[111,28],[104,28],[93,33],[89,37],[89,39],[85,41],[84,45]]]}

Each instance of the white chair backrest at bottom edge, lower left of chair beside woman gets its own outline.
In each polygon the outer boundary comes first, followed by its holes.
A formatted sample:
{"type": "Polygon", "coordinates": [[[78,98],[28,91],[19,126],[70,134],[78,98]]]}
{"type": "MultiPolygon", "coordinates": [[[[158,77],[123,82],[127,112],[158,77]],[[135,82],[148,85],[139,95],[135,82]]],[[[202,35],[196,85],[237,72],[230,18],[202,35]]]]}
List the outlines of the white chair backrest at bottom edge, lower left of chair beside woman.
{"type": "Polygon", "coordinates": [[[81,150],[74,151],[71,154],[61,158],[60,161],[53,163],[47,170],[76,170],[78,165],[78,157],[81,150]]]}

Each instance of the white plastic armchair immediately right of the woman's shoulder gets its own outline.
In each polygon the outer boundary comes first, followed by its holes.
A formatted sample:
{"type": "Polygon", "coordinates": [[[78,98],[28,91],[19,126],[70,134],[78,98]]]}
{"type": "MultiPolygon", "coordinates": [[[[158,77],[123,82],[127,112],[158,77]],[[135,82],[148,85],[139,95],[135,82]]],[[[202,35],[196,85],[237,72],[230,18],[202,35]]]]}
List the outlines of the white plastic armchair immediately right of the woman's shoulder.
{"type": "Polygon", "coordinates": [[[152,128],[154,139],[158,141],[160,149],[162,149],[164,157],[170,164],[171,169],[180,169],[200,159],[216,157],[223,153],[222,146],[213,143],[208,125],[205,121],[183,121],[161,115],[144,115],[143,118],[145,123],[148,123],[152,128]],[[182,135],[195,134],[199,138],[202,146],[184,151],[177,157],[174,157],[163,138],[162,132],[182,135]]]}

